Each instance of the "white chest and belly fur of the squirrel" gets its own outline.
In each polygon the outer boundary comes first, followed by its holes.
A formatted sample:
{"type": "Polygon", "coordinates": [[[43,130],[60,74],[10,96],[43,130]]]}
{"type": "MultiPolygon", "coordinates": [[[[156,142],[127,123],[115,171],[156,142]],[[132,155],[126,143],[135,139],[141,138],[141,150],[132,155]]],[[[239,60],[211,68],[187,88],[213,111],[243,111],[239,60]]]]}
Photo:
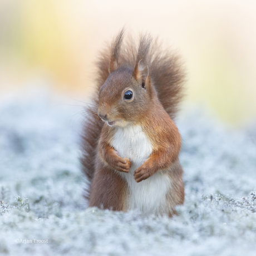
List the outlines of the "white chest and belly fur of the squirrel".
{"type": "Polygon", "coordinates": [[[141,126],[118,128],[112,142],[121,157],[127,157],[132,162],[129,173],[120,173],[127,181],[129,196],[126,200],[127,210],[139,209],[146,214],[163,214],[166,212],[166,193],[171,186],[167,174],[158,171],[146,180],[136,183],[134,171],[150,156],[152,145],[145,136],[141,126]]]}

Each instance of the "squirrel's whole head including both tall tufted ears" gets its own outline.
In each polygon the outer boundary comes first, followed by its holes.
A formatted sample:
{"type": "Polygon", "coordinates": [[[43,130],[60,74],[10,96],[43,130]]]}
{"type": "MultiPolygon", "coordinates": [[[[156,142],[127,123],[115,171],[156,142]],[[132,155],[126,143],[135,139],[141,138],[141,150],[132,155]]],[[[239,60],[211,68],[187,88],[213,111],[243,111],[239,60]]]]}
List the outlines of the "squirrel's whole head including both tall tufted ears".
{"type": "Polygon", "coordinates": [[[100,88],[98,115],[110,126],[136,124],[147,115],[156,97],[151,84],[146,56],[151,38],[142,37],[135,67],[119,66],[119,53],[124,29],[112,43],[109,72],[100,88]]]}

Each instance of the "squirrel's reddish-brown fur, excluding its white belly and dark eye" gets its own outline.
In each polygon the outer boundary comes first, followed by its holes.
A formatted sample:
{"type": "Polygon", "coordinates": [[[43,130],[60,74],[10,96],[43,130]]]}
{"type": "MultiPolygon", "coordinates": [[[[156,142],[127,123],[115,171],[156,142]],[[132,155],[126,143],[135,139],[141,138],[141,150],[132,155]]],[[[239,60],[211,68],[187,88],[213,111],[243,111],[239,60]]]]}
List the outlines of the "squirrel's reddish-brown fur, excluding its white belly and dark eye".
{"type": "Polygon", "coordinates": [[[178,56],[163,52],[149,36],[141,37],[136,51],[137,45],[131,40],[121,48],[123,35],[122,30],[97,62],[97,92],[93,105],[87,106],[82,137],[81,163],[89,181],[85,196],[90,206],[113,210],[126,210],[124,202],[129,196],[126,181],[118,172],[129,172],[132,163],[111,146],[116,127],[104,124],[98,113],[120,126],[127,122],[141,125],[153,151],[135,170],[134,178],[141,182],[159,170],[166,171],[173,180],[166,195],[171,215],[175,205],[184,201],[183,170],[178,159],[181,137],[172,120],[182,97],[184,71],[178,56]],[[120,95],[127,88],[132,88],[137,98],[123,103],[120,95]]]}

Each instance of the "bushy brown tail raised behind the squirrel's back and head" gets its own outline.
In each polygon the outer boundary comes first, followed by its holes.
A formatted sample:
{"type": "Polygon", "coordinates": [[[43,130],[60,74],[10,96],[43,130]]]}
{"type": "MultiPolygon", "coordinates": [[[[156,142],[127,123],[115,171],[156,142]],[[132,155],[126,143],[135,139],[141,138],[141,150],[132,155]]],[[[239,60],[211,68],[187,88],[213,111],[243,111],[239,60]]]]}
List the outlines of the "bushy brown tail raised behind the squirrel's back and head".
{"type": "MultiPolygon", "coordinates": [[[[122,43],[124,29],[117,35],[110,46],[107,46],[99,55],[96,62],[96,93],[90,105],[86,106],[86,123],[82,135],[81,164],[83,173],[88,180],[85,197],[90,198],[90,183],[93,178],[96,160],[96,147],[104,122],[97,115],[99,106],[99,90],[110,75],[110,63],[113,55],[118,55],[117,67],[128,66],[134,68],[138,56],[139,41],[131,37],[122,43]],[[121,47],[122,45],[122,47],[121,47]]],[[[164,49],[159,41],[152,41],[151,37],[141,36],[139,54],[146,55],[150,77],[159,101],[171,119],[178,111],[178,105],[183,97],[184,68],[180,58],[175,53],[164,49]],[[142,42],[142,43],[141,43],[142,42]]],[[[145,57],[145,56],[142,56],[145,57]]]]}

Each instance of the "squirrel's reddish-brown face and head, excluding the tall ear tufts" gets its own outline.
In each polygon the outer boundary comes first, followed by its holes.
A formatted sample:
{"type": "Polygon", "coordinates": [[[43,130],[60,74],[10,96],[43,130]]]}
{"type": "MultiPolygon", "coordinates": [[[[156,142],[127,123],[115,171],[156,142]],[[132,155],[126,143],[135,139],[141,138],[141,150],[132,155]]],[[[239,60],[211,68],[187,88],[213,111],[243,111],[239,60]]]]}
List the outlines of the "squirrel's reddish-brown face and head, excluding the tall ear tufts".
{"type": "Polygon", "coordinates": [[[140,70],[135,74],[131,68],[121,67],[100,88],[98,115],[110,126],[135,124],[146,115],[153,96],[148,71],[144,76],[140,70]]]}

